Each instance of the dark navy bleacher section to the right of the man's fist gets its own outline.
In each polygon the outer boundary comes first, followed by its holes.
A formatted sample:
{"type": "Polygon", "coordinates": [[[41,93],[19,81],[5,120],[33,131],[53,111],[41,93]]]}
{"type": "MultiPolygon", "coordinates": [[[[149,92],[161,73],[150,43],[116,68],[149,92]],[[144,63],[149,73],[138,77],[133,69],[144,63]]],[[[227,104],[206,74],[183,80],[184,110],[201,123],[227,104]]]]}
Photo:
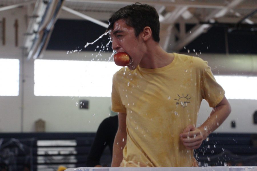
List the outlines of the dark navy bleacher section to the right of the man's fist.
{"type": "Polygon", "coordinates": [[[212,133],[194,151],[199,166],[257,166],[257,134],[212,133]]]}

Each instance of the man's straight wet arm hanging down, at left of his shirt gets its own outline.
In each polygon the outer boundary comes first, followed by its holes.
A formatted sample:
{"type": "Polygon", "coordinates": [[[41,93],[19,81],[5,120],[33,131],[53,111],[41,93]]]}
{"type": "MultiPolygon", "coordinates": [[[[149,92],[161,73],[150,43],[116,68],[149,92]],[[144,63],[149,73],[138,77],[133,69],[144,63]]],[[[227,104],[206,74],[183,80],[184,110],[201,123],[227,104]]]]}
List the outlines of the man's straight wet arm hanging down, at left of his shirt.
{"type": "Polygon", "coordinates": [[[127,142],[126,113],[119,113],[119,127],[113,143],[113,160],[111,167],[119,167],[123,159],[123,148],[127,142]]]}

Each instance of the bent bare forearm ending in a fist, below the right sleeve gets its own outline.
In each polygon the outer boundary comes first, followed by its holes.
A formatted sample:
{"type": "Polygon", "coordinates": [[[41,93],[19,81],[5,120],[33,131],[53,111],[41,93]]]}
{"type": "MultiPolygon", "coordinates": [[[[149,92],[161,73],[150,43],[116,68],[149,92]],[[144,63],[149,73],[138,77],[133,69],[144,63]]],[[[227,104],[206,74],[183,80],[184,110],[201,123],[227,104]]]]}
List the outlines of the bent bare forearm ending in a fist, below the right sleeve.
{"type": "Polygon", "coordinates": [[[230,104],[224,96],[222,101],[212,109],[210,116],[200,127],[195,128],[193,125],[188,125],[184,129],[183,133],[180,134],[180,139],[184,146],[188,149],[199,148],[202,141],[225,121],[230,112],[230,104]]]}

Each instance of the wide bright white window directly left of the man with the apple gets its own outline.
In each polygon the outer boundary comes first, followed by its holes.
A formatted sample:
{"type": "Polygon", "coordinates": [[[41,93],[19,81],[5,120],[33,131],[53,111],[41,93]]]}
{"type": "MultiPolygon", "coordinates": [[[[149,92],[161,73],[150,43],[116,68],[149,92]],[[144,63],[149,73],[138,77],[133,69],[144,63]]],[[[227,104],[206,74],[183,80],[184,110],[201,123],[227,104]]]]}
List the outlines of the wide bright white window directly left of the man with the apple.
{"type": "Polygon", "coordinates": [[[35,60],[36,96],[111,97],[114,62],[35,60]]]}

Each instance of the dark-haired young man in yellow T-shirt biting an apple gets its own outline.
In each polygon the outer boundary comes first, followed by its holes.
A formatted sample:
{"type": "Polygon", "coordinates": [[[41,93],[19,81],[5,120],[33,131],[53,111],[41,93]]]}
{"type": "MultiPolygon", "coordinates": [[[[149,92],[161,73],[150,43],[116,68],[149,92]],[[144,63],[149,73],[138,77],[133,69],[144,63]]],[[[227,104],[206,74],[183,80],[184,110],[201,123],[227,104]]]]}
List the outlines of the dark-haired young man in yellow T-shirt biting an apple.
{"type": "Polygon", "coordinates": [[[159,45],[158,13],[149,5],[121,8],[109,19],[112,48],[130,56],[113,76],[112,110],[119,112],[112,167],[198,166],[193,149],[230,113],[207,62],[167,53],[159,45]],[[196,127],[202,99],[213,107],[196,127]]]}

